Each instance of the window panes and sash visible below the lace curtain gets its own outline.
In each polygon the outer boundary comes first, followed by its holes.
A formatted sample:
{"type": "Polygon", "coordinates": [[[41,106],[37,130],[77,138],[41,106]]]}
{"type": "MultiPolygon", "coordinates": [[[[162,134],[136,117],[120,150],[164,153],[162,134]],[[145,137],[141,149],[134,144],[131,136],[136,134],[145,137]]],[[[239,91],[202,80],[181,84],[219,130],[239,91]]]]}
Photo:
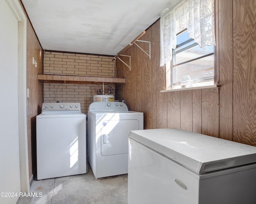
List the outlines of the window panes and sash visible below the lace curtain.
{"type": "Polygon", "coordinates": [[[172,53],[172,89],[213,84],[214,45],[202,49],[184,29],[177,34],[177,46],[172,53]]]}

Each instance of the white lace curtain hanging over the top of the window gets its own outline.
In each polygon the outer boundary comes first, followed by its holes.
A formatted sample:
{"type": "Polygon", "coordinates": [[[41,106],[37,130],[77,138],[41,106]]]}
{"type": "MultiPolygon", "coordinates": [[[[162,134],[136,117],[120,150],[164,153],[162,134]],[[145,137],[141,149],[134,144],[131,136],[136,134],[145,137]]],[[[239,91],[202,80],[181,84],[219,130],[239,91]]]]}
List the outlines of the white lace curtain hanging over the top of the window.
{"type": "Polygon", "coordinates": [[[214,0],[181,0],[174,8],[166,8],[160,17],[160,66],[172,60],[176,34],[188,29],[188,37],[203,49],[215,45],[214,0]]]}

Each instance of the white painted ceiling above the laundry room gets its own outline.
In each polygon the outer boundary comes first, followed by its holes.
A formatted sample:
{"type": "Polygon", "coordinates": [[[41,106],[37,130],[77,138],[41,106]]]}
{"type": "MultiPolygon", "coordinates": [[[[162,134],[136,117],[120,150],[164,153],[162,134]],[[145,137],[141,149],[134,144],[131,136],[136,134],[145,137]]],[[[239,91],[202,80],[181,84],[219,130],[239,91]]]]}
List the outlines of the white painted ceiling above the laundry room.
{"type": "Polygon", "coordinates": [[[43,49],[116,55],[178,0],[22,0],[43,49]]]}

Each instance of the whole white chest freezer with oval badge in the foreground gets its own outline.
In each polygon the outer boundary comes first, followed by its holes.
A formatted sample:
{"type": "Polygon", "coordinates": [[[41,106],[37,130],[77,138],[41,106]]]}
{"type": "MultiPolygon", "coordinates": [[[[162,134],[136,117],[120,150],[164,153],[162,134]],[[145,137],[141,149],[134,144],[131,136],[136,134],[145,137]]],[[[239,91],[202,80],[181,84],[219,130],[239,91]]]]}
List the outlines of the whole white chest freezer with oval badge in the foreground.
{"type": "Polygon", "coordinates": [[[128,204],[256,203],[256,147],[180,129],[128,139],[128,204]]]}

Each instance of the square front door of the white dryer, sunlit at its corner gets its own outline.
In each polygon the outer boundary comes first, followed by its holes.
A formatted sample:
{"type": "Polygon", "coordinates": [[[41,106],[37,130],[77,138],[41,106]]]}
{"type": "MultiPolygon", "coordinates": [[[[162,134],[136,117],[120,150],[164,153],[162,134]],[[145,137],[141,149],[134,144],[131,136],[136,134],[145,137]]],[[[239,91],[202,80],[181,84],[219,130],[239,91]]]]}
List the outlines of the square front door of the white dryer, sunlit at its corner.
{"type": "Polygon", "coordinates": [[[139,129],[138,120],[105,120],[101,123],[101,154],[128,153],[128,133],[139,129]]]}

